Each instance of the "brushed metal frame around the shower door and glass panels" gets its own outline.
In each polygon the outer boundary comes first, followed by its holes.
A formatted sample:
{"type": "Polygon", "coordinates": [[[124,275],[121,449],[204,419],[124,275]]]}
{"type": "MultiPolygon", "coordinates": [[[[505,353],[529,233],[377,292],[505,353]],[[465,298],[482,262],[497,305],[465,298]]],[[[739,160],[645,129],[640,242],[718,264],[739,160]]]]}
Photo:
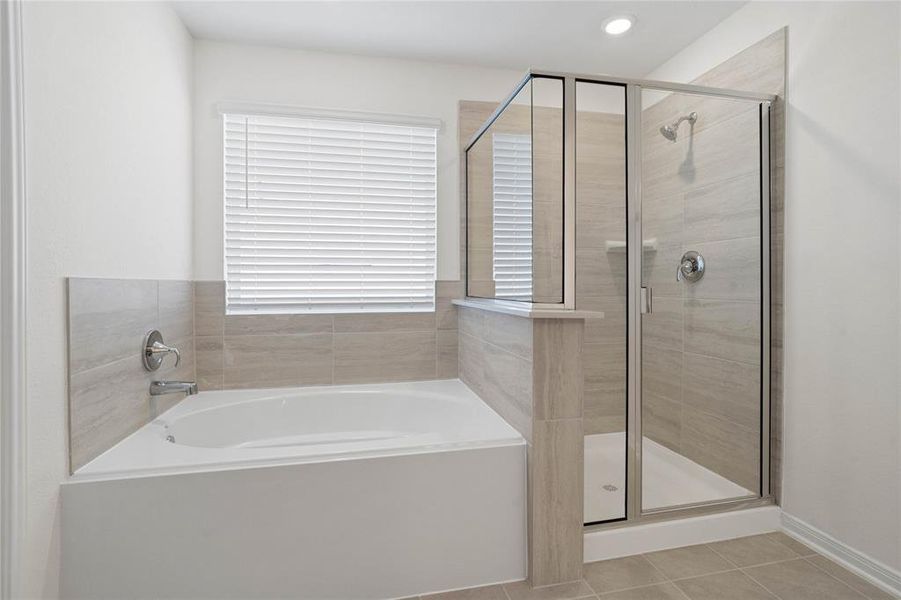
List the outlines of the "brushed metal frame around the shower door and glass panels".
{"type": "MultiPolygon", "coordinates": [[[[576,73],[561,73],[532,69],[526,75],[523,83],[517,86],[520,89],[525,81],[531,77],[552,77],[564,81],[564,152],[566,158],[572,157],[571,162],[565,162],[564,185],[567,189],[575,190],[576,161],[576,99],[575,89],[577,83],[596,83],[616,85],[625,88],[626,94],[626,261],[627,261],[627,306],[626,306],[626,505],[625,517],[609,519],[606,521],[586,524],[586,531],[608,529],[612,527],[631,526],[639,523],[663,521],[687,516],[712,514],[743,508],[768,506],[775,503],[772,487],[770,485],[770,437],[771,413],[770,413],[770,194],[772,179],[770,166],[772,161],[771,136],[771,112],[772,104],[776,97],[771,94],[759,94],[725,88],[713,88],[707,86],[672,83],[665,81],[632,79],[622,77],[608,77],[604,75],[582,75],[576,73]],[[760,317],[761,317],[761,416],[760,416],[760,490],[756,497],[735,498],[728,500],[713,500],[695,504],[679,505],[672,507],[643,510],[642,496],[642,378],[641,378],[641,351],[642,351],[642,323],[641,323],[641,289],[642,289],[642,261],[643,247],[634,240],[642,238],[642,214],[641,214],[641,127],[642,110],[641,97],[643,90],[653,90],[671,93],[691,94],[696,96],[709,96],[733,100],[747,100],[757,102],[760,106],[760,234],[761,234],[761,269],[760,269],[760,317]],[[570,133],[572,135],[570,135],[570,133]]],[[[506,103],[501,105],[501,108],[506,103]]],[[[577,199],[573,204],[577,203],[577,199]]],[[[571,223],[571,222],[570,222],[571,223]]],[[[574,251],[574,240],[570,237],[574,233],[574,227],[567,226],[565,239],[567,249],[574,251]]],[[[573,269],[574,271],[574,269],[573,269]]],[[[576,307],[578,308],[578,307],[576,307]]]]}

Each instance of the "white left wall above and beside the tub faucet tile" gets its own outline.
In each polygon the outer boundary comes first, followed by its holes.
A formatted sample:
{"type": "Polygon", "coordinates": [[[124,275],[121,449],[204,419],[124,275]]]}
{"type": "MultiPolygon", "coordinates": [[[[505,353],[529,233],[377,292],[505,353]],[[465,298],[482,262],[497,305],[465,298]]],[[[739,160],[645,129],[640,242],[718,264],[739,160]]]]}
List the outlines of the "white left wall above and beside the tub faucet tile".
{"type": "MultiPolygon", "coordinates": [[[[67,276],[192,275],[192,40],[165,4],[24,6],[25,597],[57,594],[67,276]]],[[[140,343],[140,340],[135,340],[140,343]]]]}

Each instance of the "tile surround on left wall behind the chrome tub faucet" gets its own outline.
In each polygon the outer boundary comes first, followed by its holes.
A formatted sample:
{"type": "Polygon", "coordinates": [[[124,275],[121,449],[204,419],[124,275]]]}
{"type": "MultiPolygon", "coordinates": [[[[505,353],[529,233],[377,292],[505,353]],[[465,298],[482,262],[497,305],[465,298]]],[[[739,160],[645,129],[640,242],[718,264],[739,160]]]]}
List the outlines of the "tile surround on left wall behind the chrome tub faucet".
{"type": "Polygon", "coordinates": [[[89,462],[183,397],[151,398],[154,380],[194,380],[194,285],[140,279],[68,280],[69,466],[89,462]],[[144,370],[141,341],[159,329],[181,352],[144,370]]]}

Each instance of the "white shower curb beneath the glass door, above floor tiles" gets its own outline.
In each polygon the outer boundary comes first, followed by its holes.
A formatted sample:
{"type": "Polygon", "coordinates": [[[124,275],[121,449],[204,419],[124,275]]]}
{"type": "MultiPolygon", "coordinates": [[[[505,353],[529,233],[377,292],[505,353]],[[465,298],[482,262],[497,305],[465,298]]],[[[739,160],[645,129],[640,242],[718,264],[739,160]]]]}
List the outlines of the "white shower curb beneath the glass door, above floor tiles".
{"type": "Polygon", "coordinates": [[[619,527],[585,534],[585,562],[778,531],[778,506],[619,527]]]}

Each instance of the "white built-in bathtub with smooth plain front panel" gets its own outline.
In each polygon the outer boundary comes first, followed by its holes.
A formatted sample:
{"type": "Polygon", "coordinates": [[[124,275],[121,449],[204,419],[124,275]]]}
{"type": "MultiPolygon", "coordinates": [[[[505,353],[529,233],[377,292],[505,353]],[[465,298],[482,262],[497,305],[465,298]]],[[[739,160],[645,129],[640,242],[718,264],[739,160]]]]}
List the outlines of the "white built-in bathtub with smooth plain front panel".
{"type": "Polygon", "coordinates": [[[202,392],[62,487],[66,598],[523,579],[525,441],[459,380],[202,392]]]}

